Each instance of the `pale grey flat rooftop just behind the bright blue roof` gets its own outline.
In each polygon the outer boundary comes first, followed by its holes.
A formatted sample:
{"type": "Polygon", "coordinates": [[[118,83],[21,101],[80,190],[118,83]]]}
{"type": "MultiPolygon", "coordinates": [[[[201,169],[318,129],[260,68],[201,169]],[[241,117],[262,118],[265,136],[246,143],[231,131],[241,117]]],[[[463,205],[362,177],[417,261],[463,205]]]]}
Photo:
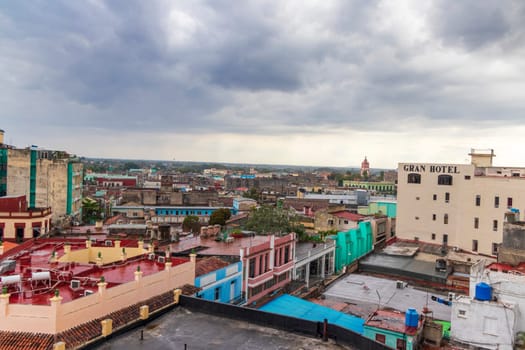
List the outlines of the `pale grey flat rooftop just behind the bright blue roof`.
{"type": "Polygon", "coordinates": [[[361,274],[348,275],[334,284],[323,293],[325,300],[316,300],[317,303],[336,309],[350,306],[345,311],[351,312],[352,307],[360,310],[361,315],[370,314],[381,305],[381,308],[391,308],[406,312],[409,308],[421,313],[424,307],[433,312],[435,319],[450,321],[451,307],[431,300],[431,296],[447,299],[448,295],[427,292],[412,286],[397,288],[397,281],[372,277],[361,274]],[[379,294],[379,295],[378,295],[379,294]],[[379,302],[379,296],[381,302],[379,302]],[[337,307],[339,305],[339,307],[337,307]]]}

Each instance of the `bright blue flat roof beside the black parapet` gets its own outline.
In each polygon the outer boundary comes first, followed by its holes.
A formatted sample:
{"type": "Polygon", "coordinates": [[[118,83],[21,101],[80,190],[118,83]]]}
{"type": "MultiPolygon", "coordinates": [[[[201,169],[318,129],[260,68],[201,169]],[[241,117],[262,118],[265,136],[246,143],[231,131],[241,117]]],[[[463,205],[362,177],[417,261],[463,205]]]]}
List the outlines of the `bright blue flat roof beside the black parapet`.
{"type": "Polygon", "coordinates": [[[363,324],[365,323],[363,319],[357,316],[348,315],[288,294],[269,302],[260,310],[314,322],[323,322],[326,318],[328,323],[350,329],[359,334],[363,334],[363,324]]]}

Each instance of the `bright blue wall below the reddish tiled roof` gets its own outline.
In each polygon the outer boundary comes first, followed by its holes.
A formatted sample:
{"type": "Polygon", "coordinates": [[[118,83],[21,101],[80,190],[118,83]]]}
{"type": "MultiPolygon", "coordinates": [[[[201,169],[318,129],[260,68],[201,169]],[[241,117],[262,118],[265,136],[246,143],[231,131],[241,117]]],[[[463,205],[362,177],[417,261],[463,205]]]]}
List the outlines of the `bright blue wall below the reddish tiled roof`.
{"type": "Polygon", "coordinates": [[[231,303],[241,298],[242,289],[242,262],[228,265],[222,269],[210,272],[195,278],[195,286],[203,288],[196,295],[211,301],[231,303]],[[227,271],[235,270],[227,276],[227,271]],[[233,298],[231,295],[232,283],[234,284],[233,298]],[[216,296],[219,298],[216,299],[216,296]]]}

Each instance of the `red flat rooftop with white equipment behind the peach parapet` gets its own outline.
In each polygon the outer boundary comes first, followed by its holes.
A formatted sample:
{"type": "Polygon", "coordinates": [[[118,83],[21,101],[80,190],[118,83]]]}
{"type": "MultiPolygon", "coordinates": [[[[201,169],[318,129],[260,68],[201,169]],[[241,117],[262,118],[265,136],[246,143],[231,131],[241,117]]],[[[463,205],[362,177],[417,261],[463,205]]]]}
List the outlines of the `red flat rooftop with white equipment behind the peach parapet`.
{"type": "MultiPolygon", "coordinates": [[[[159,262],[158,256],[152,258],[146,251],[125,261],[102,266],[94,263],[51,262],[53,252],[58,258],[64,255],[66,242],[71,245],[72,252],[86,248],[83,239],[39,239],[27,241],[2,256],[3,262],[14,261],[13,266],[0,276],[2,287],[8,288],[10,303],[48,305],[56,289],[63,298],[62,302],[68,302],[83,297],[85,293],[98,291],[97,283],[101,276],[108,283],[107,288],[112,288],[133,281],[139,266],[143,277],[165,269],[165,263],[159,262]],[[79,286],[71,288],[72,280],[79,281],[79,286]]],[[[92,247],[104,247],[105,242],[97,240],[92,247]]],[[[121,240],[121,247],[137,247],[137,241],[121,240]]],[[[172,266],[188,260],[184,257],[171,258],[172,266]]]]}

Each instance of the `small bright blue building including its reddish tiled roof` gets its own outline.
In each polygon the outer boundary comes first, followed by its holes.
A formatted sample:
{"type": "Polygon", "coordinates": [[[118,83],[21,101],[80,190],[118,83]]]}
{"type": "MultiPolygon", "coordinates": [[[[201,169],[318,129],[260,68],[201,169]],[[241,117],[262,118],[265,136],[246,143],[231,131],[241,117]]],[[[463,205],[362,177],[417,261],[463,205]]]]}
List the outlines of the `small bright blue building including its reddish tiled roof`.
{"type": "Polygon", "coordinates": [[[195,286],[202,288],[196,296],[221,303],[241,301],[242,262],[229,264],[210,257],[197,262],[195,286]]]}

